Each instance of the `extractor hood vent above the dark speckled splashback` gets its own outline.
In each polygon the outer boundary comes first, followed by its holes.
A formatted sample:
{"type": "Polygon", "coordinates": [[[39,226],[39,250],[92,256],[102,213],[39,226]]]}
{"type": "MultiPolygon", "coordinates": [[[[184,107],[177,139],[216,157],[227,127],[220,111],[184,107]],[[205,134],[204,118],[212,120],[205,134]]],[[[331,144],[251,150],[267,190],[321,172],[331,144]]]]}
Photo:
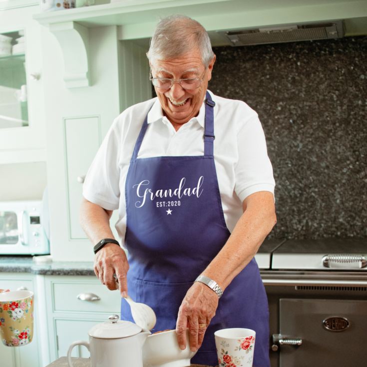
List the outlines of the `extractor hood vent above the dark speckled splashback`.
{"type": "Polygon", "coordinates": [[[262,43],[306,41],[312,39],[341,38],[344,36],[343,20],[322,23],[282,24],[218,32],[233,46],[262,43]]]}

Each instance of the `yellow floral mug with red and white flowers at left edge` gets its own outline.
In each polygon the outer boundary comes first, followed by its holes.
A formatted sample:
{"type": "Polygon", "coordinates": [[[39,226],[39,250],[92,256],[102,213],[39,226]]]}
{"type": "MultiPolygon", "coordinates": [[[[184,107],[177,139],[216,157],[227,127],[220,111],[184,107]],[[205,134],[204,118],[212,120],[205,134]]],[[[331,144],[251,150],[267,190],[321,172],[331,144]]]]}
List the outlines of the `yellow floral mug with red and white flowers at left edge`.
{"type": "Polygon", "coordinates": [[[0,293],[0,337],[7,347],[29,344],[33,338],[33,292],[0,293]]]}

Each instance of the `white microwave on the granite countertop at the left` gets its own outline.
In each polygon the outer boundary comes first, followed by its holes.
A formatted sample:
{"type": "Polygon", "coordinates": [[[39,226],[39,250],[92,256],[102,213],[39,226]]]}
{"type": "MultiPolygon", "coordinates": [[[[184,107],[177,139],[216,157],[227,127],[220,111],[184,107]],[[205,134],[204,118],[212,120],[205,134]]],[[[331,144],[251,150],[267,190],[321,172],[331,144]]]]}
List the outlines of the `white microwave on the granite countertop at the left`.
{"type": "Polygon", "coordinates": [[[41,208],[41,201],[0,202],[1,255],[49,254],[41,208]]]}

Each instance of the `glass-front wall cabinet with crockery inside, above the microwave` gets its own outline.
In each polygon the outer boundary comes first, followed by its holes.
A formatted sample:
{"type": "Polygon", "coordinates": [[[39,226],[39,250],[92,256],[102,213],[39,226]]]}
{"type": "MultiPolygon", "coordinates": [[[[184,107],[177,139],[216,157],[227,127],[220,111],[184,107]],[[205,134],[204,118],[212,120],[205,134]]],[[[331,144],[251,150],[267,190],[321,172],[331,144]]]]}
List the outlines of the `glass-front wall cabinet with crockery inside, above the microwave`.
{"type": "Polygon", "coordinates": [[[0,11],[0,164],[44,161],[38,6],[0,11]]]}

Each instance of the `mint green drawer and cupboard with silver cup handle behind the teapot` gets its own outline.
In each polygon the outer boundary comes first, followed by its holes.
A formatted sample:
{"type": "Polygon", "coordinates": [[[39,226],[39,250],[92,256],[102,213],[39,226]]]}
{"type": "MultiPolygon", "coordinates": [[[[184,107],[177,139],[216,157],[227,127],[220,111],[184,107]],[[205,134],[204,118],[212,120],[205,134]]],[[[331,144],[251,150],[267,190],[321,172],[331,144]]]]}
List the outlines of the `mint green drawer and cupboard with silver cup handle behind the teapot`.
{"type": "MultiPolygon", "coordinates": [[[[45,276],[48,300],[46,320],[50,361],[66,356],[70,344],[88,341],[88,330],[120,315],[120,293],[109,291],[93,276],[45,276]]],[[[73,357],[89,357],[83,347],[74,348],[73,357]]]]}

